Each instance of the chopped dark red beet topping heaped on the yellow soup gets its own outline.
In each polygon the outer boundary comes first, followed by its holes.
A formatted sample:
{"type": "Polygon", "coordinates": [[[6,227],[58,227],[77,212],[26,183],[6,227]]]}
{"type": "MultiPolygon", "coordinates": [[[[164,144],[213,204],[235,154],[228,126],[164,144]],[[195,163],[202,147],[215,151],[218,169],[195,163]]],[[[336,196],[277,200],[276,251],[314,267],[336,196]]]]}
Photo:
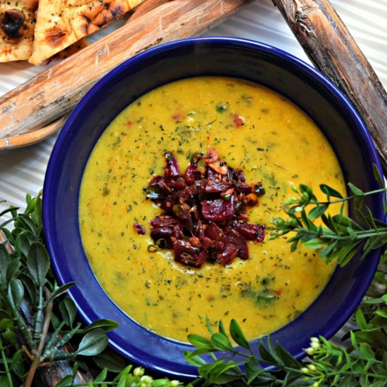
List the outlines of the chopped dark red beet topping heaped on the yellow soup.
{"type": "Polygon", "coordinates": [[[154,176],[145,189],[146,198],[165,211],[149,222],[152,246],[171,249],[177,262],[194,267],[247,260],[247,241],[265,238],[265,226],[249,224],[246,215],[265,193],[262,184],[248,185],[243,172],[229,167],[215,149],[206,156],[195,153],[184,175],[172,153],[164,157],[164,176],[154,176]]]}

